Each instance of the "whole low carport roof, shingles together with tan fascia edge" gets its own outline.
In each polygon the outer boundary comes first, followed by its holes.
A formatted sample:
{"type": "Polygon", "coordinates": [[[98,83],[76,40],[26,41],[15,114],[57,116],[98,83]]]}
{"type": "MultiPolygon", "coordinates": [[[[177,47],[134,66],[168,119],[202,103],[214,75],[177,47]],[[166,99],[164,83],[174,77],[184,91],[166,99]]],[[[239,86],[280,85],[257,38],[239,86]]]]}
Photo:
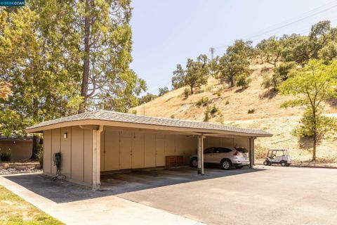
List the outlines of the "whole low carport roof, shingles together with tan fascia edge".
{"type": "Polygon", "coordinates": [[[264,137],[272,134],[261,129],[246,129],[241,127],[229,127],[222,124],[209,122],[196,122],[190,120],[176,120],[162,117],[149,117],[128,113],[117,113],[106,110],[98,110],[56,120],[41,122],[32,127],[27,127],[28,133],[41,132],[47,129],[55,129],[70,126],[103,125],[111,127],[128,127],[137,129],[154,129],[159,131],[179,131],[186,134],[206,134],[224,136],[251,136],[264,137]]]}

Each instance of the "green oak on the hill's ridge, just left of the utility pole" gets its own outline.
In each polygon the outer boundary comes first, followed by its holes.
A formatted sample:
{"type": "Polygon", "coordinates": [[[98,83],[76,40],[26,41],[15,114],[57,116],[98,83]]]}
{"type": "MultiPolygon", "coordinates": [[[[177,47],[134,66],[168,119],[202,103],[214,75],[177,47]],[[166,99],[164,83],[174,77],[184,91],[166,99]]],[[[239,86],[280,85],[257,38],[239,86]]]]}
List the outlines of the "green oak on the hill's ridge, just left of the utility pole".
{"type": "Polygon", "coordinates": [[[178,64],[177,70],[173,71],[172,86],[177,89],[181,86],[190,86],[191,94],[194,88],[207,84],[210,69],[206,55],[198,56],[197,60],[187,59],[186,69],[178,64]]]}

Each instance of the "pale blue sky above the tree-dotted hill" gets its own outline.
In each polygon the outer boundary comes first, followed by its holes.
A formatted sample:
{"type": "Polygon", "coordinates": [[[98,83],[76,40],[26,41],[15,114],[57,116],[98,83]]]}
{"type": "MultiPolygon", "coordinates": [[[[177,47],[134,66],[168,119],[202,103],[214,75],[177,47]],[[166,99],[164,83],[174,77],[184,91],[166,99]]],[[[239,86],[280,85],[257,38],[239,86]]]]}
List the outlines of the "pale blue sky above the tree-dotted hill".
{"type": "Polygon", "coordinates": [[[259,40],[272,35],[308,34],[312,24],[337,25],[332,0],[133,0],[133,63],[148,90],[171,89],[178,63],[209,48],[222,55],[235,39],[259,40]]]}

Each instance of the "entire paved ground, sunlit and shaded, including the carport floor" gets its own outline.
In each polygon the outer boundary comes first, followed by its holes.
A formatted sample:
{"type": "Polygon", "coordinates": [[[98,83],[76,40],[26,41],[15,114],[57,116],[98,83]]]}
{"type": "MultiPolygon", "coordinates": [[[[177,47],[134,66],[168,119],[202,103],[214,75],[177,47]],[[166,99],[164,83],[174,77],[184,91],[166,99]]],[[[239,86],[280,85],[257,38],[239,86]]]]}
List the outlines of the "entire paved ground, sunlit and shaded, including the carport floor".
{"type": "Polygon", "coordinates": [[[58,205],[55,208],[67,217],[95,224],[123,224],[123,219],[124,224],[336,224],[337,169],[261,167],[195,173],[184,168],[103,176],[105,191],[96,193],[37,175],[3,177],[0,184],[19,184],[52,202],[42,210],[58,205]]]}

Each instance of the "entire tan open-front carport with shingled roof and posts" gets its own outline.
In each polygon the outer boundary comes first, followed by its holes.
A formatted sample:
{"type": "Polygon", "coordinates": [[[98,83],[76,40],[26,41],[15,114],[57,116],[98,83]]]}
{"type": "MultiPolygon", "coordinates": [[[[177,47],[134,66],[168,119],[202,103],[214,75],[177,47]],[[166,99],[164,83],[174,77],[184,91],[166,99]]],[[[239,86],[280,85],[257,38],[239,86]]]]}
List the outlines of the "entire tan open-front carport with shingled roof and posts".
{"type": "Polygon", "coordinates": [[[203,150],[211,146],[247,148],[253,167],[254,139],[272,136],[260,129],[105,110],[41,122],[26,131],[44,134],[44,174],[56,174],[53,154],[61,153],[67,180],[93,190],[100,188],[101,172],[164,167],[169,156],[188,164],[197,153],[198,173],[204,174],[203,150]]]}

